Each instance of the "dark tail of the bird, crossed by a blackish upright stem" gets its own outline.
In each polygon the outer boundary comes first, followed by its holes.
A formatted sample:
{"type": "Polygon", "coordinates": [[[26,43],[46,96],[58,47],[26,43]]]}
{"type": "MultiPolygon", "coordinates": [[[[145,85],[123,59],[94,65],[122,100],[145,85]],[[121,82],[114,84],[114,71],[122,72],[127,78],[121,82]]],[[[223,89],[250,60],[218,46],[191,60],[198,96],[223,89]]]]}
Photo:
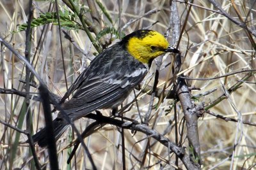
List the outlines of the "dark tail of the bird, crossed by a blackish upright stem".
{"type": "MultiPolygon", "coordinates": [[[[55,140],[57,141],[60,138],[61,134],[63,134],[63,132],[65,132],[68,128],[68,123],[62,118],[56,118],[55,120],[53,120],[52,124],[54,128],[55,140]]],[[[45,130],[46,129],[44,128],[32,136],[33,141],[35,143],[37,142],[40,147],[47,146],[48,143],[45,130]]]]}

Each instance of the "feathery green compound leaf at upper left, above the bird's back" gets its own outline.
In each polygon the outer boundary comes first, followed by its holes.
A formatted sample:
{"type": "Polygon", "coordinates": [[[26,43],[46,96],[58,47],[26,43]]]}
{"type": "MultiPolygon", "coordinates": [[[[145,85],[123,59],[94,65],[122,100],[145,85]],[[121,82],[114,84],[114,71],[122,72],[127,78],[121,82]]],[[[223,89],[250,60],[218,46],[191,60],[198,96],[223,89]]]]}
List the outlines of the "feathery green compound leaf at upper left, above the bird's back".
{"type": "MultiPolygon", "coordinates": [[[[59,11],[60,25],[66,29],[83,29],[82,25],[76,22],[76,16],[70,11],[59,11]]],[[[31,27],[38,27],[40,25],[53,24],[58,25],[58,16],[56,12],[41,13],[40,17],[34,18],[31,22],[31,27]]],[[[19,25],[16,32],[26,31],[28,24],[19,25]]]]}

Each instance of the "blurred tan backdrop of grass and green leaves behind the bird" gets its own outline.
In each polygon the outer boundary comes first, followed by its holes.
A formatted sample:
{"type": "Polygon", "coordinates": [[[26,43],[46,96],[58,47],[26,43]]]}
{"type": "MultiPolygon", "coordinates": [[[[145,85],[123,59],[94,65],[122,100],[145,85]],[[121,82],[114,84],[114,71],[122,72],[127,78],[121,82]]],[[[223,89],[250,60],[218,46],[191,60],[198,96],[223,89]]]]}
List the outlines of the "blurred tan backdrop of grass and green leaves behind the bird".
{"type": "MultiPolygon", "coordinates": [[[[234,20],[244,23],[252,29],[246,31],[221,12],[210,1],[102,1],[95,2],[95,9],[88,1],[74,1],[81,15],[88,25],[86,30],[79,17],[70,10],[65,1],[58,1],[61,22],[61,38],[56,19],[54,1],[33,1],[33,24],[31,37],[31,63],[49,90],[63,96],[67,87],[76,80],[81,71],[86,69],[90,61],[100,51],[108,48],[122,38],[138,29],[153,29],[167,36],[171,45],[177,47],[173,41],[170,18],[172,12],[170,4],[177,4],[179,13],[180,34],[179,48],[182,53],[182,69],[177,74],[184,74],[189,78],[214,78],[247,69],[255,69],[255,1],[217,1],[221,8],[234,20]],[[95,16],[97,17],[95,19],[95,16]],[[91,25],[90,25],[91,24],[91,25]],[[66,33],[65,33],[66,32],[66,33]],[[68,36],[70,38],[68,38],[68,36]],[[92,41],[92,38],[94,39],[92,41]],[[72,40],[70,40],[72,39],[72,40]],[[61,43],[63,55],[61,55],[61,43]]],[[[29,15],[29,1],[10,0],[0,1],[0,34],[24,55],[26,46],[26,24],[29,15]]],[[[145,84],[153,85],[156,63],[161,63],[160,77],[157,88],[172,90],[172,61],[173,55],[164,55],[154,60],[145,84]]],[[[12,52],[1,46],[0,62],[1,89],[17,89],[24,91],[25,67],[24,62],[15,58],[12,52]]],[[[177,78],[175,78],[177,79],[177,78]]],[[[31,82],[38,83],[35,78],[31,82]]],[[[255,72],[236,73],[214,80],[188,80],[189,85],[195,85],[200,90],[192,90],[193,103],[208,106],[207,110],[226,117],[226,120],[216,118],[208,113],[198,119],[201,145],[202,169],[253,169],[255,168],[256,136],[255,136],[255,72]],[[243,79],[243,78],[246,79],[243,79]],[[244,81],[240,81],[240,80],[244,81]],[[238,88],[239,87],[239,88],[238,88]],[[204,92],[214,92],[206,96],[195,96],[204,92]],[[229,95],[225,95],[228,92],[229,95]],[[218,101],[220,100],[220,101],[218,101]],[[210,105],[211,104],[211,105],[210,105]],[[227,118],[242,120],[232,122],[227,118]],[[254,123],[254,124],[253,124],[254,123]],[[234,146],[235,149],[234,149],[234,146]],[[233,154],[233,158],[231,156],[233,154]]],[[[142,88],[143,89],[143,88],[142,88]]],[[[37,95],[36,86],[30,92],[37,95]]],[[[150,102],[150,95],[136,90],[138,108],[134,103],[125,117],[140,122],[138,109],[145,115],[150,102]]],[[[192,97],[191,96],[191,97],[192,97]]],[[[125,100],[124,105],[134,99],[134,93],[125,100]]],[[[26,114],[31,115],[31,131],[35,133],[44,127],[42,104],[30,100],[29,111],[24,110],[25,98],[15,94],[0,94],[0,120],[10,125],[26,130],[26,114]]],[[[183,124],[183,112],[179,101],[164,98],[154,100],[152,118],[149,127],[164,134],[171,141],[178,139],[182,146],[188,147],[186,127],[183,124]],[[177,125],[179,134],[175,133],[174,109],[177,106],[177,125]],[[184,129],[184,134],[180,134],[184,129]]],[[[111,111],[103,110],[106,116],[111,111]]],[[[56,113],[52,113],[56,117],[56,113]]],[[[91,124],[93,120],[81,118],[76,122],[79,131],[91,124]]],[[[35,169],[33,157],[28,144],[24,143],[27,136],[0,124],[0,169],[35,169]]],[[[69,129],[57,142],[60,169],[91,169],[83,148],[79,146],[76,158],[66,164],[72,147],[70,141],[75,139],[69,129]]],[[[147,136],[140,132],[132,134],[125,131],[125,162],[127,169],[140,169],[141,159],[147,145],[147,136]]],[[[121,169],[122,149],[121,136],[118,128],[104,125],[99,131],[84,139],[93,160],[99,169],[121,169]]],[[[145,169],[175,169],[175,155],[169,154],[166,147],[150,139],[150,153],[145,159],[145,169]]],[[[49,168],[48,153],[45,148],[36,147],[36,154],[40,164],[49,168]]],[[[187,148],[188,150],[189,148],[187,148]]],[[[179,167],[185,169],[182,162],[179,167]]]]}

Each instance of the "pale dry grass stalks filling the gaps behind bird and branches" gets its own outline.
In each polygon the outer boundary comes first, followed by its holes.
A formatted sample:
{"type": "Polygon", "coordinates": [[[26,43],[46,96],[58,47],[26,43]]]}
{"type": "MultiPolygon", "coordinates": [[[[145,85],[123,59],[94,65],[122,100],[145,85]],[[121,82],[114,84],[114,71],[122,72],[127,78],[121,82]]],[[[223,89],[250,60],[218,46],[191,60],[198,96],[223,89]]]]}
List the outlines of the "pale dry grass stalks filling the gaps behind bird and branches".
{"type": "MultiPolygon", "coordinates": [[[[113,19],[113,25],[106,22],[106,17],[99,10],[100,17],[102,17],[103,27],[115,27],[118,29],[118,1],[102,1],[109,15],[113,19]],[[103,24],[104,23],[104,24],[103,24]]],[[[51,1],[36,1],[34,17],[37,18],[40,13],[46,12],[49,8],[51,1]]],[[[234,11],[234,6],[230,1],[220,1],[221,6],[225,11],[230,13],[232,17],[239,20],[247,19],[248,27],[255,28],[256,11],[255,6],[252,6],[254,1],[236,1],[236,8],[239,10],[239,15],[234,11]],[[254,9],[254,10],[253,10],[254,9]],[[249,14],[248,14],[249,13],[249,14]],[[248,18],[246,18],[248,17],[248,18]]],[[[177,3],[179,9],[179,18],[182,24],[188,12],[188,8],[184,3],[177,3]]],[[[241,69],[253,69],[255,67],[255,50],[253,49],[252,42],[248,38],[246,31],[234,24],[227,17],[219,13],[212,12],[216,10],[212,5],[206,1],[195,1],[196,6],[192,6],[189,18],[186,23],[186,29],[182,34],[181,44],[179,46],[182,55],[184,55],[184,63],[182,65],[181,73],[184,73],[190,78],[212,78],[221,76],[226,73],[241,71],[241,69]],[[188,48],[189,47],[189,48],[188,48]],[[188,51],[186,51],[188,50],[188,51]]],[[[170,8],[168,1],[123,1],[121,14],[121,26],[124,26],[131,18],[138,18],[145,12],[153,10],[154,8],[160,11],[152,15],[145,16],[129,25],[123,32],[125,34],[132,32],[136,29],[143,27],[150,27],[156,31],[164,33],[168,27],[170,8]],[[152,25],[154,22],[156,24],[152,25]]],[[[60,10],[65,7],[60,3],[60,10]]],[[[87,9],[84,2],[84,8],[87,9]]],[[[10,44],[13,45],[20,54],[24,55],[25,48],[25,32],[11,33],[17,29],[19,24],[24,24],[26,16],[28,15],[27,1],[0,1],[0,20],[1,20],[1,35],[6,38],[10,44]]],[[[51,7],[52,10],[52,7],[51,7]]],[[[55,8],[53,8],[55,10],[55,8]]],[[[86,13],[90,16],[90,13],[86,13]]],[[[83,55],[77,48],[62,36],[62,45],[64,53],[65,71],[67,74],[67,82],[63,76],[63,60],[61,59],[60,36],[58,26],[48,24],[45,31],[42,32],[43,26],[35,27],[32,31],[33,38],[31,44],[31,59],[33,59],[33,66],[36,71],[42,76],[49,89],[54,94],[62,96],[66,92],[66,83],[69,87],[75,80],[78,74],[83,70],[83,66],[90,63],[90,59],[94,57],[93,53],[97,52],[92,46],[92,42],[84,31],[70,30],[70,36],[76,41],[77,45],[84,50],[88,55],[83,55]],[[40,36],[43,34],[43,39],[39,41],[40,36]]],[[[250,33],[249,33],[250,34],[250,33]]],[[[63,35],[63,34],[62,34],[63,35]]],[[[250,34],[252,36],[252,34],[250,34]]],[[[93,34],[93,37],[95,35],[93,34]]],[[[110,38],[109,34],[105,36],[106,40],[110,38]]],[[[255,37],[252,36],[255,41],[255,37]]],[[[115,38],[114,38],[115,39],[115,38]]],[[[168,41],[172,42],[172,37],[168,37],[168,41]]],[[[115,40],[116,41],[116,40],[115,40]]],[[[4,48],[4,47],[3,47],[4,48]]],[[[1,55],[1,74],[0,82],[1,88],[24,90],[24,84],[19,80],[24,80],[24,64],[20,60],[13,59],[12,53],[4,48],[1,55]]],[[[159,81],[159,88],[163,88],[163,84],[168,80],[166,73],[171,70],[170,66],[165,67],[171,59],[164,57],[162,70],[160,73],[161,80],[159,81]]],[[[152,67],[152,73],[154,72],[152,67]]],[[[234,74],[216,80],[198,81],[191,80],[189,83],[200,88],[200,91],[192,91],[191,93],[198,94],[207,92],[208,90],[217,88],[217,90],[207,96],[200,97],[195,100],[195,104],[205,102],[209,104],[218,99],[225,90],[232,87],[241,80],[246,73],[234,74]]],[[[153,76],[154,77],[154,76],[153,76]]],[[[35,80],[36,81],[36,80],[35,80]]],[[[212,106],[210,110],[225,117],[237,119],[237,115],[241,114],[241,119],[248,122],[256,121],[255,111],[255,76],[254,74],[247,80],[253,83],[243,83],[239,89],[234,91],[228,99],[224,99],[219,104],[212,106]],[[238,111],[238,112],[237,112],[238,111]]],[[[169,87],[167,90],[170,90],[169,87]]],[[[31,87],[31,92],[38,92],[35,88],[31,87]]],[[[131,101],[134,95],[127,101],[131,101]]],[[[141,114],[147,113],[148,103],[150,96],[145,94],[138,97],[138,105],[141,114]]],[[[126,102],[127,102],[126,101],[126,102]]],[[[158,99],[156,98],[155,103],[158,99]]],[[[19,127],[19,129],[26,129],[26,110],[22,110],[24,98],[11,94],[1,94],[0,96],[0,120],[8,122],[9,124],[19,127]]],[[[175,131],[173,127],[174,111],[172,110],[168,115],[165,115],[166,110],[169,108],[173,101],[164,99],[163,103],[157,106],[152,111],[152,114],[157,113],[157,124],[155,129],[163,133],[166,128],[170,128],[166,133],[166,137],[171,141],[175,141],[175,131]],[[172,123],[172,125],[170,125],[172,123]]],[[[39,128],[44,127],[44,114],[42,105],[38,102],[31,101],[30,108],[33,122],[33,132],[38,131],[39,128]]],[[[104,115],[109,115],[109,110],[102,111],[104,115]]],[[[177,103],[178,124],[182,123],[182,109],[180,103],[177,103]]],[[[56,113],[54,114],[56,116],[56,113]]],[[[136,105],[131,111],[125,113],[125,117],[134,118],[140,121],[136,105]]],[[[150,126],[154,122],[152,118],[150,126]]],[[[77,128],[83,132],[84,127],[90,124],[92,120],[82,118],[76,122],[77,128]]],[[[182,125],[182,124],[181,124],[182,125]]],[[[213,117],[205,113],[203,118],[198,120],[200,145],[203,160],[203,169],[253,169],[255,166],[256,155],[256,138],[255,126],[241,124],[237,122],[225,122],[220,118],[213,117]],[[236,145],[235,150],[234,145],[236,145]],[[234,155],[230,158],[230,155],[234,155]]],[[[29,147],[24,141],[27,137],[20,134],[3,124],[0,124],[0,169],[35,169],[33,157],[29,153],[29,147]],[[19,137],[20,135],[20,137],[19,137]]],[[[186,132],[185,132],[186,133],[186,132]]],[[[66,148],[70,139],[68,138],[70,131],[65,133],[58,144],[58,159],[60,169],[90,169],[88,158],[84,155],[83,148],[79,147],[76,153],[76,159],[72,159],[70,165],[66,164],[68,153],[71,148],[66,148]],[[61,145],[59,145],[61,143],[61,145]]],[[[183,136],[184,146],[188,146],[186,136],[183,136]],[[185,139],[184,139],[185,138],[185,139]]],[[[95,132],[88,138],[84,139],[88,146],[90,153],[92,153],[93,160],[99,169],[121,169],[122,168],[122,150],[120,147],[121,136],[113,125],[105,125],[99,131],[95,132]]],[[[150,139],[154,143],[153,139],[150,139]]],[[[125,157],[127,169],[140,169],[140,160],[143,157],[144,148],[147,145],[147,136],[137,132],[135,135],[131,131],[125,131],[125,157]]],[[[41,164],[48,162],[47,150],[36,146],[36,152],[41,164]]],[[[150,147],[150,155],[148,154],[145,160],[145,167],[149,169],[159,169],[163,166],[164,169],[169,169],[175,164],[175,156],[168,154],[166,147],[160,143],[156,143],[150,147]]],[[[181,168],[182,162],[179,162],[181,168]]],[[[47,165],[49,168],[49,165],[47,165]]]]}

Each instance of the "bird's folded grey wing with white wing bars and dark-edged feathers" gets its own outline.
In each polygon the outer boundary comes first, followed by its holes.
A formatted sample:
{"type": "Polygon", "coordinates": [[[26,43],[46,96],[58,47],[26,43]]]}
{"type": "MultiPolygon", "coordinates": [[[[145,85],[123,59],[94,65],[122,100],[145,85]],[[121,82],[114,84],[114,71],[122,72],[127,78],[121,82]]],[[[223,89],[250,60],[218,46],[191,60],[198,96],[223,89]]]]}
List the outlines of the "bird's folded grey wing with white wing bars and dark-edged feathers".
{"type": "Polygon", "coordinates": [[[104,78],[93,76],[83,81],[72,99],[63,104],[63,109],[71,110],[72,113],[79,111],[85,115],[97,109],[113,108],[124,101],[145,74],[147,69],[138,67],[132,74],[115,74],[115,78],[111,74],[104,78]]]}

